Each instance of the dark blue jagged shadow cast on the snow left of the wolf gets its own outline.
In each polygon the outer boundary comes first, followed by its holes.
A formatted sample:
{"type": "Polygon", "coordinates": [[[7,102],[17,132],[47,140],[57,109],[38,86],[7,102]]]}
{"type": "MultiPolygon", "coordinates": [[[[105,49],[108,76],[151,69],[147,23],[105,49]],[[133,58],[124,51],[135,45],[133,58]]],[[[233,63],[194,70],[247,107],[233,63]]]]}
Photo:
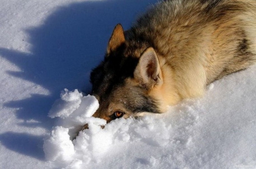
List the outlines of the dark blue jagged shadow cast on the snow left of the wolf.
{"type": "MultiPolygon", "coordinates": [[[[71,3],[53,11],[41,26],[26,29],[28,43],[32,45],[30,54],[0,48],[1,56],[22,70],[7,73],[39,84],[51,94],[31,94],[30,98],[11,101],[5,106],[19,108],[15,112],[18,119],[39,121],[38,126],[50,130],[53,123],[47,113],[59,98],[60,91],[79,88],[88,93],[90,70],[103,59],[114,26],[122,23],[125,29],[129,28],[138,14],[155,2],[109,0],[71,3]]],[[[37,127],[35,124],[21,125],[37,127]]],[[[43,159],[42,137],[7,132],[0,135],[0,141],[13,151],[43,159]],[[31,142],[32,147],[23,146],[31,142]]]]}

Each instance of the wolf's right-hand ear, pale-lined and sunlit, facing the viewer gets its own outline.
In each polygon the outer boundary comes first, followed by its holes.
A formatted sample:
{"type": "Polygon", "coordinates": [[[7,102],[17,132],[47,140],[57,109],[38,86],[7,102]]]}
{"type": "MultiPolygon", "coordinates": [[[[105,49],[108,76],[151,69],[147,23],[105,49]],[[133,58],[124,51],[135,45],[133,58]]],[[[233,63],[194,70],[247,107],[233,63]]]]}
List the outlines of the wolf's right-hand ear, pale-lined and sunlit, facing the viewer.
{"type": "Polygon", "coordinates": [[[134,77],[147,89],[161,81],[159,60],[153,48],[147,48],[142,53],[135,68],[134,77]]]}

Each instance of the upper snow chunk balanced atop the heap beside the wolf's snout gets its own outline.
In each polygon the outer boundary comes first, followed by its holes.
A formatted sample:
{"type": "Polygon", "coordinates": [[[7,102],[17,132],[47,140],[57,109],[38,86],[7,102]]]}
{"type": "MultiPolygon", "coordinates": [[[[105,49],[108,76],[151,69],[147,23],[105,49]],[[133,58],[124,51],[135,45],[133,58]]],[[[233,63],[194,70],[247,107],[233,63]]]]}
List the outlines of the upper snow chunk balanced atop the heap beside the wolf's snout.
{"type": "Polygon", "coordinates": [[[60,117],[58,126],[69,129],[69,136],[75,138],[77,132],[85,124],[105,125],[106,121],[91,117],[98,109],[98,100],[94,96],[83,96],[77,89],[61,91],[60,99],[56,100],[49,111],[51,118],[60,117]]]}

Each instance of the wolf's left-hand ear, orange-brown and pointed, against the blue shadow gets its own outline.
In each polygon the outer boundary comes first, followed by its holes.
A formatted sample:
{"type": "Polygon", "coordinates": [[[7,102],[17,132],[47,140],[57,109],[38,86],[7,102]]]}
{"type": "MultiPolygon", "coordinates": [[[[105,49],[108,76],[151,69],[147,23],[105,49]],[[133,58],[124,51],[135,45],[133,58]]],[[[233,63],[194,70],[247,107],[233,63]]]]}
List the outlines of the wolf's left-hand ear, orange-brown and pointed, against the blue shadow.
{"type": "Polygon", "coordinates": [[[123,43],[125,43],[125,34],[123,33],[123,27],[121,26],[121,24],[117,24],[109,40],[109,45],[107,48],[108,54],[111,51],[114,51],[115,49],[120,47],[123,43]]]}

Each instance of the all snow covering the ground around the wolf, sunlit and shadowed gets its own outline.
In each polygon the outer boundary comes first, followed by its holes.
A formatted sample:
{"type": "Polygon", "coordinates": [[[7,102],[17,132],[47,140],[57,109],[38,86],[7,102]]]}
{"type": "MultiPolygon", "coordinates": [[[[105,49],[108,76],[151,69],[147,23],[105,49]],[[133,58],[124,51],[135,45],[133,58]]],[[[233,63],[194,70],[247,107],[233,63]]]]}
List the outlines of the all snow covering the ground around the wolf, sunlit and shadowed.
{"type": "Polygon", "coordinates": [[[256,168],[256,66],[162,115],[91,117],[112,29],[155,2],[0,1],[0,168],[256,168]]]}

